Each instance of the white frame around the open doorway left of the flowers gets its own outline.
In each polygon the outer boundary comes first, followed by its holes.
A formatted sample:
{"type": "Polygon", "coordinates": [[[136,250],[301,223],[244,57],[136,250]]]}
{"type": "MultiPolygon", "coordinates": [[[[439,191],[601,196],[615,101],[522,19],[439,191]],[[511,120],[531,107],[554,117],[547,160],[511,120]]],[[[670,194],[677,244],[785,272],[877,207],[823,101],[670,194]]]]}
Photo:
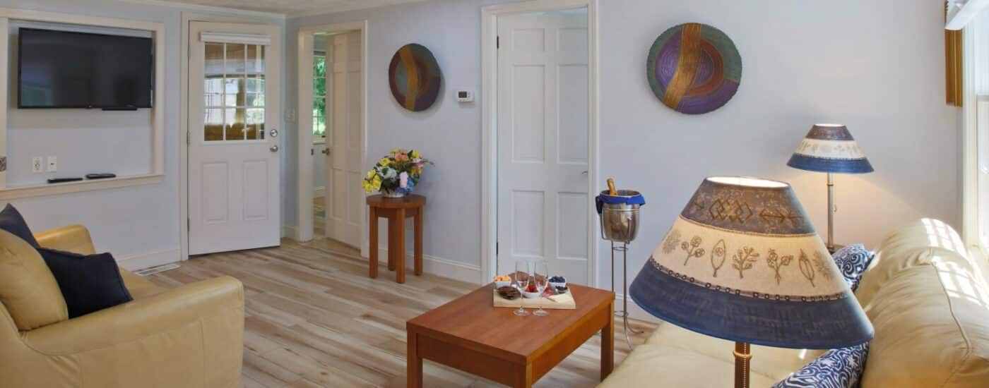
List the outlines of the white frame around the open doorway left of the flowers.
{"type": "MultiPolygon", "coordinates": [[[[298,62],[298,77],[297,83],[299,87],[299,95],[297,96],[298,104],[296,104],[297,122],[299,123],[298,130],[298,140],[299,149],[296,151],[299,154],[299,159],[296,161],[298,164],[299,171],[299,202],[298,202],[298,212],[299,212],[299,223],[296,225],[297,234],[296,239],[299,241],[310,241],[313,239],[313,156],[310,154],[310,150],[313,148],[313,115],[303,115],[303,112],[308,112],[304,107],[310,107],[313,104],[313,60],[303,60],[305,58],[312,58],[313,50],[313,35],[316,33],[345,33],[351,31],[361,32],[361,94],[363,101],[361,102],[361,144],[363,147],[360,150],[360,160],[361,164],[365,163],[365,155],[367,154],[368,148],[368,22],[346,22],[346,23],[334,23],[330,25],[321,26],[308,26],[299,29],[299,49],[296,51],[296,58],[298,62]],[[309,41],[306,39],[309,38],[309,41]],[[305,130],[304,130],[305,129],[305,130]]],[[[358,182],[354,182],[354,185],[358,185],[358,182]]],[[[329,188],[327,188],[329,190],[329,188]]],[[[327,209],[328,211],[328,209],[327,209]]],[[[361,206],[361,230],[367,230],[367,209],[361,206]]],[[[367,249],[367,234],[361,233],[361,256],[368,256],[367,249]]]]}

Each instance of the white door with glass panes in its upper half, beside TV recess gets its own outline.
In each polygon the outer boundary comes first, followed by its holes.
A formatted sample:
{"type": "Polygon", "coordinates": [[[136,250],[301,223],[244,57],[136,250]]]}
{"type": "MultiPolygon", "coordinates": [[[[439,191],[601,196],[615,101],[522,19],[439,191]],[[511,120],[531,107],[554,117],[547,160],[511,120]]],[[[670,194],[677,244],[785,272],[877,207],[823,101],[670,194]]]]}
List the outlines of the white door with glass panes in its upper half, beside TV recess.
{"type": "Polygon", "coordinates": [[[189,26],[189,254],[279,245],[277,27],[189,26]]]}

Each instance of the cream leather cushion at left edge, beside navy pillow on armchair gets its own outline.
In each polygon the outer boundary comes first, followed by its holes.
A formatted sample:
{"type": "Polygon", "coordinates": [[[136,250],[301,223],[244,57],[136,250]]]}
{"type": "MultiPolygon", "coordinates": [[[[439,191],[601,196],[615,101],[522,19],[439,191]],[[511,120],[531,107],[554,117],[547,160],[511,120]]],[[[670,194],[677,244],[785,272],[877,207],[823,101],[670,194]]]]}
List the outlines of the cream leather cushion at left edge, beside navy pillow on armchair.
{"type": "Polygon", "coordinates": [[[18,330],[68,319],[58,283],[41,255],[24,239],[0,230],[0,302],[18,330]]]}

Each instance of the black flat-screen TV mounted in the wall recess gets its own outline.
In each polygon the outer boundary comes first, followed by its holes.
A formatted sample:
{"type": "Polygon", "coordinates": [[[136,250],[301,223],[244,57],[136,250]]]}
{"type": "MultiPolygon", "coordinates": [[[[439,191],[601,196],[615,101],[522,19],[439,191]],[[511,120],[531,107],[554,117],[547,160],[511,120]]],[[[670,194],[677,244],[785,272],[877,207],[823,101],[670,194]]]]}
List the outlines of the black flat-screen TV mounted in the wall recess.
{"type": "Polygon", "coordinates": [[[19,29],[18,108],[151,108],[150,38],[19,29]]]}

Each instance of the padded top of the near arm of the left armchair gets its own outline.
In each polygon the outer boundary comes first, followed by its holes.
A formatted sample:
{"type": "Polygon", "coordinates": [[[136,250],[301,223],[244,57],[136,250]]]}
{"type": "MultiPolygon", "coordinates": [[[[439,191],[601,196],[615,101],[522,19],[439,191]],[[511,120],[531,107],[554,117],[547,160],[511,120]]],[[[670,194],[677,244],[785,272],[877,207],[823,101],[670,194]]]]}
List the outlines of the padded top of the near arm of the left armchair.
{"type": "Polygon", "coordinates": [[[25,332],[22,338],[48,355],[74,354],[140,341],[236,309],[242,325],[243,306],[243,285],[223,276],[25,332]]]}

